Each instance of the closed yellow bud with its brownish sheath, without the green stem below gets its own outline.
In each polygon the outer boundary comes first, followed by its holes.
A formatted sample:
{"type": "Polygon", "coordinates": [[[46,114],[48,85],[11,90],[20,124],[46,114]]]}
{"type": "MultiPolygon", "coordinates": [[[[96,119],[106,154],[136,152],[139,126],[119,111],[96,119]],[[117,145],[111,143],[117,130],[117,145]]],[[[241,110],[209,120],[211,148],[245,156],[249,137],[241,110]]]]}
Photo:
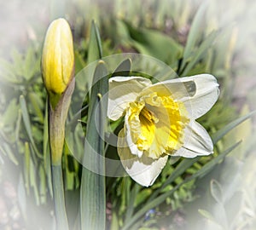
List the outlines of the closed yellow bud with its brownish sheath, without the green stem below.
{"type": "Polygon", "coordinates": [[[44,38],[42,74],[49,95],[52,164],[61,164],[65,122],[74,89],[73,35],[65,19],[53,20],[44,38]]]}

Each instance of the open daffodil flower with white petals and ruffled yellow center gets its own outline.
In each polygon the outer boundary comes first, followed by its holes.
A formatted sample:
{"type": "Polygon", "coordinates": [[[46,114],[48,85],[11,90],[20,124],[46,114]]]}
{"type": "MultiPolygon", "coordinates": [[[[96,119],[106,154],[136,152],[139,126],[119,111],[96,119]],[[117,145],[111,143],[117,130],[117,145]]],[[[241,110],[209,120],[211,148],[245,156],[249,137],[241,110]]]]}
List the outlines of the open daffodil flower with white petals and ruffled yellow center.
{"type": "Polygon", "coordinates": [[[141,77],[109,79],[108,118],[125,116],[119,131],[119,158],[131,178],[151,186],[168,156],[195,158],[213,152],[212,140],[195,119],[218,99],[209,74],[151,83],[141,77]]]}

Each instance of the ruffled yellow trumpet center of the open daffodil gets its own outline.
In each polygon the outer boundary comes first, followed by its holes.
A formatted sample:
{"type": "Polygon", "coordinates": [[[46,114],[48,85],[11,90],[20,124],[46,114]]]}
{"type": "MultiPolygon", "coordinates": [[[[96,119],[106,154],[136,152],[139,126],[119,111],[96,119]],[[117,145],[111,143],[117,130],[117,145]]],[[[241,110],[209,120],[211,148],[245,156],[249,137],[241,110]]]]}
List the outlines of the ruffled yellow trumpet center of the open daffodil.
{"type": "Polygon", "coordinates": [[[128,114],[131,140],[148,157],[172,154],[183,145],[183,130],[189,119],[182,102],[152,93],[131,102],[128,114]]]}

